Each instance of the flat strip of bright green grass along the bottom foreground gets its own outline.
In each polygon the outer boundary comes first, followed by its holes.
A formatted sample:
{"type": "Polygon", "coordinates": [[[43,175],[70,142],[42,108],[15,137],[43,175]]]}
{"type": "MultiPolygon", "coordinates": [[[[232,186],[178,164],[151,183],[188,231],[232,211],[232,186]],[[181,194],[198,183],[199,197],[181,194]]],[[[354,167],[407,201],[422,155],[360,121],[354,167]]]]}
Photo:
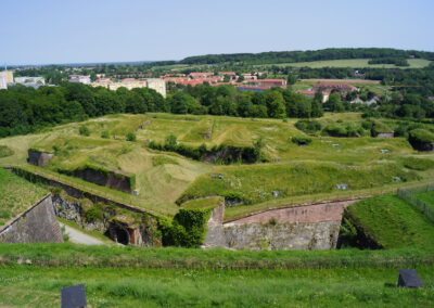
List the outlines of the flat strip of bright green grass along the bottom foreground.
{"type": "Polygon", "coordinates": [[[396,287],[396,269],[187,270],[1,268],[0,303],[59,307],[60,290],[85,283],[92,307],[430,307],[432,267],[418,267],[427,287],[396,287]],[[29,292],[31,290],[31,292],[29,292]]]}

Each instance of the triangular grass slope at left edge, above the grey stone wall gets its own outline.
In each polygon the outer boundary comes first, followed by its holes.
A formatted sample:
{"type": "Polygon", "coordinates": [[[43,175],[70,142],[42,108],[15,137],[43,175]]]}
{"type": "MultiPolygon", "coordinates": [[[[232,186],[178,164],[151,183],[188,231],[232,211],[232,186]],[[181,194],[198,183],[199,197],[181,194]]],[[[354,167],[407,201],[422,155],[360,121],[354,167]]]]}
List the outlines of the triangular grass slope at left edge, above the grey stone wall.
{"type": "Polygon", "coordinates": [[[0,226],[41,200],[48,190],[0,168],[0,226]]]}

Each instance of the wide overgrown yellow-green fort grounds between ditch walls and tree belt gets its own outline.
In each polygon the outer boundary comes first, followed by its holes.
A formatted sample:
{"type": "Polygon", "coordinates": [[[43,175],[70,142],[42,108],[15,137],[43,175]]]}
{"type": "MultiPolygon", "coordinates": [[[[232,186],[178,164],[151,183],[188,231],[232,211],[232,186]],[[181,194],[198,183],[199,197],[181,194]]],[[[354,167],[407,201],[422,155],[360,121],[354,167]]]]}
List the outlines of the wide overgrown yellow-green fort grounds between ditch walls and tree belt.
{"type": "MultiPolygon", "coordinates": [[[[395,176],[408,181],[434,176],[433,170],[409,174],[403,166],[403,157],[418,156],[404,138],[371,138],[369,131],[365,131],[362,138],[332,138],[319,133],[312,137],[311,144],[298,146],[291,142],[291,138],[306,134],[295,128],[296,121],[291,118],[171,114],[110,115],[54,127],[38,134],[1,139],[0,145],[8,145],[13,155],[0,158],[0,166],[20,165],[85,191],[164,216],[173,216],[178,210],[175,201],[186,194],[221,195],[238,191],[248,195],[251,203],[267,207],[264,202],[275,201],[271,197],[273,191],[279,191],[279,200],[326,193],[331,193],[326,197],[333,197],[339,194],[333,187],[341,182],[348,182],[350,190],[357,191],[393,184],[395,176]],[[79,134],[81,126],[89,129],[90,136],[79,134]],[[127,132],[135,132],[137,141],[126,141],[127,132]],[[261,139],[265,144],[263,152],[270,164],[218,166],[146,147],[150,140],[164,143],[169,134],[175,134],[182,144],[200,146],[204,143],[208,149],[220,144],[251,146],[261,139]],[[44,168],[29,166],[26,164],[29,147],[54,153],[54,158],[44,168]],[[388,152],[384,154],[381,150],[388,152]],[[87,164],[133,174],[139,195],[132,196],[58,172],[87,164]],[[225,180],[212,180],[210,176],[215,174],[224,174],[225,180]],[[320,184],[322,180],[329,182],[320,184]]],[[[363,119],[357,113],[343,113],[326,114],[319,121],[322,127],[336,123],[360,127],[363,119]]],[[[392,129],[397,126],[395,120],[381,121],[392,129]]],[[[431,154],[424,156],[433,158],[431,154]]]]}

